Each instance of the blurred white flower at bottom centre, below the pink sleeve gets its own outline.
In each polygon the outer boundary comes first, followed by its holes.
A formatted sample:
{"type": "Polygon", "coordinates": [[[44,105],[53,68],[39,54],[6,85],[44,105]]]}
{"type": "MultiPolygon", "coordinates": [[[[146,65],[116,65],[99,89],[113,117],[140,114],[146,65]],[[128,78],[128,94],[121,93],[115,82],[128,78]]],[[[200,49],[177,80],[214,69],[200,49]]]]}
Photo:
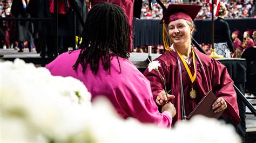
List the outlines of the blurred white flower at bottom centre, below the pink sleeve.
{"type": "Polygon", "coordinates": [[[158,142],[159,137],[170,137],[170,130],[165,128],[120,118],[107,98],[96,98],[92,106],[89,128],[96,142],[158,142]]]}

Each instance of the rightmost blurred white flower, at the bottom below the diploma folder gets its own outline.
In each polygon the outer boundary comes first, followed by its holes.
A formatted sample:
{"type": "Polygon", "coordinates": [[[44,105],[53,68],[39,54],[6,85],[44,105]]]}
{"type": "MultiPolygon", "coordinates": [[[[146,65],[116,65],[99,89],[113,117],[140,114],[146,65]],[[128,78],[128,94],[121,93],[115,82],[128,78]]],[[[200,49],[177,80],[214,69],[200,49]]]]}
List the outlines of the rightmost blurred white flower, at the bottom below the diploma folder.
{"type": "Polygon", "coordinates": [[[179,121],[171,131],[173,142],[241,142],[232,125],[201,115],[179,121]]]}

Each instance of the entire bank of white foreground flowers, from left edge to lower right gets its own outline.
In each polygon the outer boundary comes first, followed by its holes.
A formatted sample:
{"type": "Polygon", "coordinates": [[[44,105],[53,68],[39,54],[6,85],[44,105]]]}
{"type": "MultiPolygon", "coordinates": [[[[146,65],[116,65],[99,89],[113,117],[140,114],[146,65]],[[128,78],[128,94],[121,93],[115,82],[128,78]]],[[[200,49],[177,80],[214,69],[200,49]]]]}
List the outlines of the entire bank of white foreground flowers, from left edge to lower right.
{"type": "Polygon", "coordinates": [[[22,60],[0,62],[0,142],[240,142],[233,127],[196,116],[172,130],[118,117],[71,77],[22,60]]]}

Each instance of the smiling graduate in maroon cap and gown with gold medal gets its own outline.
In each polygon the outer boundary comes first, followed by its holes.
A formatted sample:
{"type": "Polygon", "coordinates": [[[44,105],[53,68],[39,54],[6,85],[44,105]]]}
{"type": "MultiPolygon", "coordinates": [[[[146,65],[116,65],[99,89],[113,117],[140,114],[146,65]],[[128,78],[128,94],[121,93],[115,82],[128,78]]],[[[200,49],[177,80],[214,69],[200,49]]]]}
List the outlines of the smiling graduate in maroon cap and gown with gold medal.
{"type": "Polygon", "coordinates": [[[163,80],[157,71],[145,70],[144,75],[151,83],[153,98],[158,105],[164,105],[166,101],[174,104],[177,115],[172,123],[186,119],[206,92],[212,90],[217,96],[212,110],[225,110],[222,116],[228,116],[238,124],[237,95],[226,67],[191,46],[193,19],[200,9],[200,5],[171,4],[161,19],[166,52],[156,60],[161,65],[158,70],[165,79],[166,91],[172,89],[170,95],[165,95],[163,80]],[[167,38],[170,38],[171,46],[167,38]],[[175,98],[169,98],[171,95],[175,98]]]}

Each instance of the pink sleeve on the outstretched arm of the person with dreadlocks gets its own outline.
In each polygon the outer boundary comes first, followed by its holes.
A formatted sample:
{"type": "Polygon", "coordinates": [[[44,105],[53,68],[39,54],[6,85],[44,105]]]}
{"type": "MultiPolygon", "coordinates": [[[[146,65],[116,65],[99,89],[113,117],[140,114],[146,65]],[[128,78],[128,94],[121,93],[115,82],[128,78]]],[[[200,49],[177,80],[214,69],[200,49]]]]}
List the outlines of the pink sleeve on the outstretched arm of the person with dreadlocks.
{"type": "Polygon", "coordinates": [[[154,123],[159,127],[171,128],[171,113],[158,111],[152,98],[150,82],[142,74],[134,75],[131,80],[122,82],[115,94],[127,117],[136,118],[142,123],[154,123]]]}

